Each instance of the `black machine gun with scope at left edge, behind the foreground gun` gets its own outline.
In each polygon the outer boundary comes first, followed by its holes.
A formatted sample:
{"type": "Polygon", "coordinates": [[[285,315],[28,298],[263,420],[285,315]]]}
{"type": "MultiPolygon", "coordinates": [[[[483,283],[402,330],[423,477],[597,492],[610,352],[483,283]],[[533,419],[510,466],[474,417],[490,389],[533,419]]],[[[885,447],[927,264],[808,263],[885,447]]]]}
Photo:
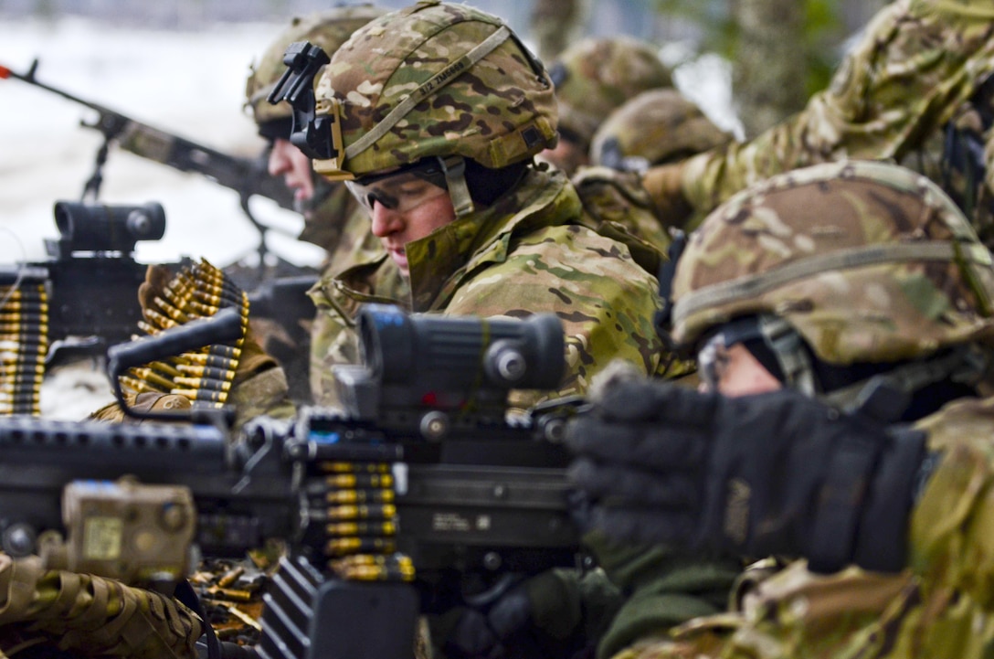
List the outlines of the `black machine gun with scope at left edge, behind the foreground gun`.
{"type": "MultiPolygon", "coordinates": [[[[108,346],[131,340],[142,318],[137,291],[147,267],[135,260],[134,250],[139,241],[160,240],[166,228],[165,212],[157,203],[60,201],[54,215],[60,238],[46,240],[50,258],[0,265],[0,351],[9,348],[5,352],[17,362],[11,366],[7,359],[9,368],[0,380],[23,372],[12,377],[15,388],[25,390],[18,397],[26,404],[5,406],[0,399],[0,411],[39,413],[38,401],[28,399],[37,399],[46,369],[79,356],[102,357],[108,346]],[[36,390],[31,397],[28,389],[36,390]]],[[[313,315],[305,294],[312,283],[313,277],[305,275],[264,281],[249,294],[252,317],[278,323],[291,339],[303,343],[306,335],[299,321],[313,315]]],[[[305,368],[297,364],[298,353],[306,356],[299,350],[270,352],[284,368],[296,367],[288,372],[295,376],[291,395],[302,401],[299,392],[306,378],[298,375],[305,368]]]]}

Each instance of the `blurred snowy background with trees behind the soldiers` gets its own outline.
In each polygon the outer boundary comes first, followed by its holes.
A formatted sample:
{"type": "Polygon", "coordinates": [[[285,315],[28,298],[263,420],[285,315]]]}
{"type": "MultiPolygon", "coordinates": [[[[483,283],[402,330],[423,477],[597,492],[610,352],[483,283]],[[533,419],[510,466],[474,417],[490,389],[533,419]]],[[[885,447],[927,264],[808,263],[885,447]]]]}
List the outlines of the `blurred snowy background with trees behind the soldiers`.
{"type": "MultiPolygon", "coordinates": [[[[402,0],[380,5],[398,8],[402,0]]],[[[721,127],[744,138],[803,106],[883,0],[472,0],[504,17],[547,63],[582,36],[627,34],[660,49],[675,81],[721,127]]],[[[234,154],[262,141],[242,107],[248,66],[293,15],[318,0],[0,0],[0,66],[234,154]]],[[[0,262],[44,256],[56,200],[77,200],[102,144],[92,113],[16,80],[0,81],[0,262]]],[[[258,234],[238,196],[193,174],[110,149],[100,198],[158,201],[167,232],[139,260],[250,259],[258,234]]],[[[252,203],[276,228],[269,247],[301,264],[298,218],[252,203]],[[257,205],[257,207],[256,207],[257,205]]]]}

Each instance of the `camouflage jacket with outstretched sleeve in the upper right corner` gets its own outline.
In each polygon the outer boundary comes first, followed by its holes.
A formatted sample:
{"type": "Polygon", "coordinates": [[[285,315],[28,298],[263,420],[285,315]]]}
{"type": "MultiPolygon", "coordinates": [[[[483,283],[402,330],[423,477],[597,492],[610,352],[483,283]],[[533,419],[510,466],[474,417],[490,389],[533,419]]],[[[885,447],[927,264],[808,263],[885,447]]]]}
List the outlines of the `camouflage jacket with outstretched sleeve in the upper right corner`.
{"type": "MultiPolygon", "coordinates": [[[[991,0],[888,5],[829,88],[812,96],[801,112],[749,141],[685,161],[682,192],[695,220],[756,181],[845,157],[891,159],[943,185],[938,171],[943,126],[963,119],[968,99],[994,72],[992,35],[991,0]]],[[[992,131],[983,138],[991,163],[992,131]]],[[[994,190],[992,177],[989,165],[982,196],[994,190]]],[[[988,217],[977,218],[981,229],[989,223],[988,217]]],[[[991,232],[980,233],[989,238],[991,232]]]]}

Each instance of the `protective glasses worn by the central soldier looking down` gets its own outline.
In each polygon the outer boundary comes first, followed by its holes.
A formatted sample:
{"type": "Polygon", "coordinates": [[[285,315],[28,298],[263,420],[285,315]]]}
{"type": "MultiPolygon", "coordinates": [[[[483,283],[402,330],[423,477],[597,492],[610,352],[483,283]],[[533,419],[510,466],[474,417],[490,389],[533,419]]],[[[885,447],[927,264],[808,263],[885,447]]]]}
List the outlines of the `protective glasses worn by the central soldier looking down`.
{"type": "Polygon", "coordinates": [[[352,196],[371,214],[376,203],[398,213],[407,213],[448,192],[445,174],[434,160],[414,163],[388,174],[346,181],[352,196]]]}

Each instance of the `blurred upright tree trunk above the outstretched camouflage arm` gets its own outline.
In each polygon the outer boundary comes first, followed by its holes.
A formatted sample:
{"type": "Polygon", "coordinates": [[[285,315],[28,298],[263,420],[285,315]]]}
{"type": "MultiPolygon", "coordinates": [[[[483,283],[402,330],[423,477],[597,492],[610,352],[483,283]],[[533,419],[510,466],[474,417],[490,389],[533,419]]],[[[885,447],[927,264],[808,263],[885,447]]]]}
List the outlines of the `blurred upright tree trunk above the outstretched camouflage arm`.
{"type": "Polygon", "coordinates": [[[735,0],[733,11],[740,41],[732,85],[747,138],[798,111],[807,101],[804,3],[735,0]]]}

